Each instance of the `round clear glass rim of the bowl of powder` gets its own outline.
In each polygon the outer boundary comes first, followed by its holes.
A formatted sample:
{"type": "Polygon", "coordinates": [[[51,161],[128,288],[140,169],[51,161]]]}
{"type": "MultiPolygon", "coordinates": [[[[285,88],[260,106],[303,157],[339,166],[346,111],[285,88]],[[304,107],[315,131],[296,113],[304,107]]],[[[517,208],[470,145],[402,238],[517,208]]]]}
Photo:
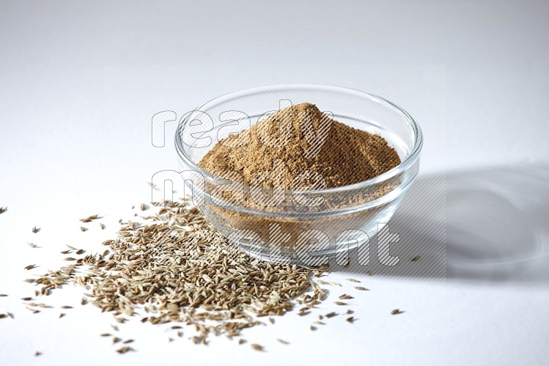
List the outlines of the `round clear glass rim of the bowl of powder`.
{"type": "MultiPolygon", "coordinates": [[[[337,186],[334,188],[326,188],[326,189],[316,190],[316,191],[296,191],[291,189],[290,190],[277,189],[277,190],[274,190],[273,193],[290,191],[296,194],[322,193],[324,195],[329,193],[340,193],[343,191],[366,188],[366,187],[372,186],[373,184],[384,182],[385,180],[395,177],[395,175],[398,175],[402,171],[405,171],[406,169],[408,169],[408,167],[410,167],[410,165],[412,165],[417,160],[417,158],[419,158],[421,148],[423,147],[423,133],[421,132],[421,127],[419,127],[417,122],[412,118],[412,116],[410,116],[408,112],[406,112],[406,110],[397,106],[397,104],[391,101],[388,101],[387,99],[384,99],[382,97],[379,97],[371,93],[366,93],[362,90],[347,88],[343,86],[331,86],[326,84],[274,84],[274,85],[266,85],[266,86],[257,86],[254,88],[246,88],[246,89],[237,90],[231,93],[226,93],[218,97],[215,97],[213,99],[210,99],[205,103],[202,103],[200,106],[198,106],[198,108],[191,110],[190,113],[187,112],[186,113],[187,117],[185,117],[185,119],[180,120],[178,123],[178,126],[176,128],[175,145],[176,145],[176,151],[178,153],[179,158],[183,160],[183,162],[187,165],[187,167],[189,167],[190,169],[194,169],[194,171],[200,173],[207,180],[210,180],[216,183],[226,181],[223,178],[217,177],[215,175],[212,175],[208,171],[205,171],[204,169],[202,169],[202,167],[200,167],[200,165],[192,161],[191,158],[187,156],[185,148],[183,147],[181,132],[185,130],[185,126],[188,125],[189,120],[192,121],[194,119],[195,112],[205,112],[202,110],[202,108],[207,108],[209,107],[210,104],[228,101],[231,99],[235,99],[237,97],[242,97],[244,95],[250,95],[253,93],[265,93],[267,91],[279,90],[283,88],[290,88],[290,89],[316,88],[316,89],[327,90],[327,91],[339,91],[342,93],[351,93],[358,97],[365,97],[367,99],[377,101],[377,103],[380,103],[383,106],[386,106],[387,108],[395,110],[398,114],[401,115],[401,117],[404,118],[404,120],[408,123],[408,125],[412,127],[412,131],[414,132],[414,145],[410,150],[410,154],[408,154],[408,156],[406,156],[406,158],[404,158],[404,160],[402,160],[400,164],[398,164],[393,169],[386,171],[385,173],[382,173],[373,178],[370,178],[369,180],[363,180],[362,182],[347,184],[344,186],[337,186]]],[[[243,189],[250,187],[247,184],[240,184],[240,183],[235,183],[234,186],[237,188],[243,188],[243,189]]],[[[205,195],[209,196],[209,193],[207,192],[204,192],[204,193],[205,195]]]]}

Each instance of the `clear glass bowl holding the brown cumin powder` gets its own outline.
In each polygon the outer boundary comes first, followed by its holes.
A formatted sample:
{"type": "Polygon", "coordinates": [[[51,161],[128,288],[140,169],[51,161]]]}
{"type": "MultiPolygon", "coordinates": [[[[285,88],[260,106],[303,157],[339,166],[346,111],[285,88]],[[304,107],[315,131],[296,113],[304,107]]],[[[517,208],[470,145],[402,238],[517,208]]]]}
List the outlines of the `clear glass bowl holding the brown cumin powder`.
{"type": "Polygon", "coordinates": [[[181,119],[175,143],[187,195],[191,188],[194,204],[230,243],[256,258],[318,265],[366,243],[378,223],[393,216],[417,175],[423,137],[410,114],[390,101],[349,88],[291,84],[240,90],[202,104],[181,119]],[[267,195],[283,197],[283,203],[268,207],[248,199],[249,186],[198,166],[215,143],[288,101],[314,103],[336,121],[379,134],[396,149],[401,164],[370,180],[323,191],[270,190],[267,195]],[[321,197],[323,203],[304,206],[296,197],[321,197]]]}

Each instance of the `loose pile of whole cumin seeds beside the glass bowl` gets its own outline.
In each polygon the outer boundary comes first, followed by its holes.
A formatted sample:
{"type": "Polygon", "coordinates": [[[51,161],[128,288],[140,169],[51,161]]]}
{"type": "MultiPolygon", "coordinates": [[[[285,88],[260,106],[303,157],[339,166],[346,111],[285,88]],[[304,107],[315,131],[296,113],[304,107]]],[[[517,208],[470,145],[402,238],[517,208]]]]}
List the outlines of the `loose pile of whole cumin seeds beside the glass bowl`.
{"type": "Polygon", "coordinates": [[[80,284],[89,289],[89,303],[117,319],[183,322],[197,334],[190,337],[195,343],[207,343],[211,334],[239,336],[265,324],[259,317],[283,315],[296,304],[314,307],[325,298],[312,277],[326,267],[250,258],[186,202],[168,202],[141,219],[128,220],[117,239],[103,243],[102,254],[76,254],[73,264],[27,282],[41,285],[40,293],[80,284]]]}

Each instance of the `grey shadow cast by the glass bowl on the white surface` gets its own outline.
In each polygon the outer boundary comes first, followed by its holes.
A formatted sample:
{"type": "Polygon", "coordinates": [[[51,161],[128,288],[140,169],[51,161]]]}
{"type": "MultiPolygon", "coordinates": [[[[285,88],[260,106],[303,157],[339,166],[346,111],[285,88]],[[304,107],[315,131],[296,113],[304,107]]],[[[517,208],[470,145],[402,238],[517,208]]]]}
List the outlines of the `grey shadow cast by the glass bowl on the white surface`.
{"type": "MultiPolygon", "coordinates": [[[[549,282],[549,165],[520,165],[417,178],[393,219],[394,267],[351,260],[337,271],[425,280],[549,282]],[[421,260],[410,258],[421,255],[421,260]]],[[[358,254],[351,253],[351,259],[358,254]]]]}

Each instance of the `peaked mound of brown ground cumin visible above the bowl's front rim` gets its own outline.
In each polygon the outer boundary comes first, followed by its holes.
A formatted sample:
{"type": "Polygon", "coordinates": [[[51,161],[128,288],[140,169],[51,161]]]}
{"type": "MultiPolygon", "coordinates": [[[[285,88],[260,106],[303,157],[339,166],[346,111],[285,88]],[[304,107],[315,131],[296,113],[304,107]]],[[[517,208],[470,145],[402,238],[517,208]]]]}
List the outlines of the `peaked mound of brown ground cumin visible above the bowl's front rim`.
{"type": "Polygon", "coordinates": [[[334,121],[314,104],[301,103],[220,141],[199,165],[227,180],[236,173],[249,186],[296,189],[299,183],[300,190],[307,190],[362,182],[400,162],[397,151],[381,136],[334,121]],[[305,171],[316,172],[314,179],[300,179],[305,171]],[[318,175],[324,179],[322,187],[318,175]]]}

